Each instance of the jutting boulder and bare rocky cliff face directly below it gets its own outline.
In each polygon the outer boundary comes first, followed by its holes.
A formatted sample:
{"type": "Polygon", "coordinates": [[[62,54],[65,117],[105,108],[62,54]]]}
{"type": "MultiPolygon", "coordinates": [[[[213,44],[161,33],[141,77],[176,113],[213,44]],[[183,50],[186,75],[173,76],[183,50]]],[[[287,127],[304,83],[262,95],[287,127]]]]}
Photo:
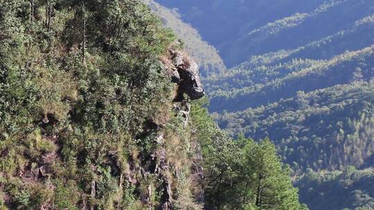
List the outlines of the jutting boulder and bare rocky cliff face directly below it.
{"type": "MultiPolygon", "coordinates": [[[[192,132],[188,128],[191,108],[189,100],[204,96],[204,89],[199,82],[197,64],[193,59],[175,49],[170,49],[167,59],[162,59],[162,62],[163,69],[168,73],[171,82],[177,84],[173,96],[172,113],[181,120],[180,124],[182,126],[180,128],[183,130],[181,135],[185,135],[184,137],[191,136],[191,133],[188,133],[192,132]]],[[[133,174],[140,172],[144,178],[152,174],[157,175],[163,187],[161,204],[157,209],[175,209],[179,202],[183,202],[181,200],[189,200],[187,202],[189,202],[188,206],[191,209],[201,209],[201,204],[204,202],[204,175],[199,143],[193,137],[190,137],[189,140],[179,139],[174,140],[176,142],[170,142],[170,137],[175,139],[175,136],[172,135],[177,136],[176,133],[170,135],[170,131],[163,124],[157,124],[156,122],[151,122],[151,124],[153,124],[153,126],[150,126],[154,129],[153,132],[157,133],[154,141],[159,144],[159,149],[150,154],[148,160],[145,160],[143,164],[130,167],[126,179],[136,185],[139,181],[132,177],[133,174]],[[177,147],[174,149],[179,149],[179,151],[170,150],[168,144],[179,144],[174,145],[177,147]],[[183,153],[189,157],[179,156],[183,153]],[[180,160],[174,158],[186,159],[181,163],[180,160]]],[[[152,191],[152,187],[149,186],[148,193],[143,196],[142,201],[145,203],[150,201],[153,193],[157,192],[152,191]]]]}

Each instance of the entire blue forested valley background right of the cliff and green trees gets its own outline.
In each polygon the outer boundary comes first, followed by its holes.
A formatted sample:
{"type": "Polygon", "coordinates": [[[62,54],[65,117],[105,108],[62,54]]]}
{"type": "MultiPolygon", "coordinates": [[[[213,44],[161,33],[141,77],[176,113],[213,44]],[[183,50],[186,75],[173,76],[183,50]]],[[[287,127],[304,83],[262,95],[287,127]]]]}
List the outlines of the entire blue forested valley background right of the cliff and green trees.
{"type": "Polygon", "coordinates": [[[221,128],[269,137],[310,209],[374,208],[373,193],[360,187],[373,186],[371,173],[362,175],[374,163],[373,1],[157,2],[229,67],[202,78],[221,128]],[[339,175],[351,166],[361,171],[339,175]],[[343,190],[342,180],[357,184],[343,190]]]}

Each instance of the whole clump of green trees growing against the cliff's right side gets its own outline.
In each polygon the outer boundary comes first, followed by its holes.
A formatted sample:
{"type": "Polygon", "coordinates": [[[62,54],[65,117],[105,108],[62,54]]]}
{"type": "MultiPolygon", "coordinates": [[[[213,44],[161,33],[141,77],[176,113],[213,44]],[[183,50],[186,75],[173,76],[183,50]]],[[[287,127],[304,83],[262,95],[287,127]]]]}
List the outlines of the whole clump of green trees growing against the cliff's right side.
{"type": "Polygon", "coordinates": [[[201,106],[193,106],[192,119],[204,156],[206,209],[308,209],[270,140],[232,140],[201,106]]]}

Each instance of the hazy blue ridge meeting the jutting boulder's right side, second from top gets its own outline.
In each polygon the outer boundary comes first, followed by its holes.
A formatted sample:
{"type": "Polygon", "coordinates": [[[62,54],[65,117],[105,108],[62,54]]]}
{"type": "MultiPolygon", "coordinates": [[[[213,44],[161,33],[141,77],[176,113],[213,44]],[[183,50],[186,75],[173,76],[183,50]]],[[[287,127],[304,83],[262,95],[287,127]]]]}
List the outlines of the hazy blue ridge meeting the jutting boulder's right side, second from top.
{"type": "MultiPolygon", "coordinates": [[[[287,73],[296,70],[296,68],[291,68],[291,66],[294,66],[292,63],[296,63],[296,61],[303,62],[307,66],[315,60],[330,59],[346,50],[365,48],[374,39],[373,31],[374,15],[370,15],[356,21],[348,30],[341,30],[334,35],[312,41],[305,46],[252,56],[249,61],[240,64],[229,72],[206,79],[206,87],[211,92],[211,96],[214,97],[217,90],[231,91],[234,88],[242,88],[254,83],[265,83],[269,79],[284,77],[287,73]]],[[[305,66],[299,65],[299,68],[305,66]]]]}

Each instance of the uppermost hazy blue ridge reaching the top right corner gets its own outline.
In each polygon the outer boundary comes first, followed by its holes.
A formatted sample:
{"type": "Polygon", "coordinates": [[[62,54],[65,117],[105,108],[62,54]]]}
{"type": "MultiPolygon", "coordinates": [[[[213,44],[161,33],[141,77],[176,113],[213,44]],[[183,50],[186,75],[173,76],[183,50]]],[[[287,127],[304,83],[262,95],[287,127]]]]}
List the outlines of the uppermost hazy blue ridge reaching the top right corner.
{"type": "Polygon", "coordinates": [[[373,12],[374,2],[370,0],[326,1],[312,12],[296,13],[251,30],[235,41],[229,52],[222,53],[222,56],[231,62],[228,64],[239,64],[251,55],[297,48],[346,30],[355,21],[373,12]]]}

